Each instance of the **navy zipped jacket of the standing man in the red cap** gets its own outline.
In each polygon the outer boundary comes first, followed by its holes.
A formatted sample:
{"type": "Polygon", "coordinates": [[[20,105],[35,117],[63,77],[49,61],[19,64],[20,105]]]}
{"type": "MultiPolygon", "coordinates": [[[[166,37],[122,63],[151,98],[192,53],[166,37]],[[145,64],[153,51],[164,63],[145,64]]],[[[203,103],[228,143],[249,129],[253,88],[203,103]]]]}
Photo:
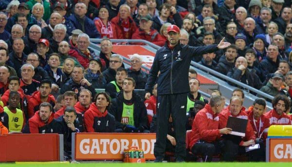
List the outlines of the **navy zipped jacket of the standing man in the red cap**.
{"type": "Polygon", "coordinates": [[[217,45],[192,47],[178,43],[171,50],[167,42],[164,47],[157,50],[153,65],[151,67],[145,91],[150,93],[155,84],[157,74],[159,95],[188,93],[190,86],[188,84],[188,71],[193,56],[203,55],[217,51],[217,45]]]}

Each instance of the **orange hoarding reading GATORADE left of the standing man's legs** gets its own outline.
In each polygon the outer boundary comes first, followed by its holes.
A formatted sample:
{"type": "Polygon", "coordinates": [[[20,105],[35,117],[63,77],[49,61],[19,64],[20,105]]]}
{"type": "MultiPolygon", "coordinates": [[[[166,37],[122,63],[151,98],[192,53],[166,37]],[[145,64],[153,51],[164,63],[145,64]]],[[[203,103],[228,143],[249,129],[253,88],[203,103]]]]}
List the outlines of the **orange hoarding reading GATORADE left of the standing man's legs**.
{"type": "Polygon", "coordinates": [[[75,133],[75,160],[122,160],[124,150],[136,146],[153,160],[155,133],[75,133]]]}

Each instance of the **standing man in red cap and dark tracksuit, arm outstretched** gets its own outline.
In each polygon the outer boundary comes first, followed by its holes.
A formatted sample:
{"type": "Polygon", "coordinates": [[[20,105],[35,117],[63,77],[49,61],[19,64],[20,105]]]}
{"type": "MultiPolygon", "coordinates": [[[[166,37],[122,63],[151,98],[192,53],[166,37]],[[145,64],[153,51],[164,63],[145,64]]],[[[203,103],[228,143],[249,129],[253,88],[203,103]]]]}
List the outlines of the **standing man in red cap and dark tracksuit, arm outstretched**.
{"type": "Polygon", "coordinates": [[[183,162],[185,157],[185,115],[187,104],[187,93],[190,91],[188,85],[188,71],[193,56],[213,53],[218,49],[224,49],[230,43],[221,40],[219,45],[208,45],[201,47],[190,47],[179,43],[180,29],[176,25],[167,28],[169,42],[164,44],[156,52],[148,80],[145,86],[145,98],[150,97],[150,91],[155,84],[157,74],[157,133],[154,145],[155,162],[162,162],[164,158],[167,125],[170,113],[172,115],[176,133],[176,161],[183,162]]]}

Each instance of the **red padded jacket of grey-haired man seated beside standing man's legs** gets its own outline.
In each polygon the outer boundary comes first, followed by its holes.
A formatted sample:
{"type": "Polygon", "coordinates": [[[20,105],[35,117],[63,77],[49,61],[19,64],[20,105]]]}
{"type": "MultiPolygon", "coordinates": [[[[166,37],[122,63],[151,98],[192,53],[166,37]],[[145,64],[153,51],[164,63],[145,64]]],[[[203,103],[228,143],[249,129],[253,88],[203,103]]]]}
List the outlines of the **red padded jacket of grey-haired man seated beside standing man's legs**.
{"type": "Polygon", "coordinates": [[[204,140],[206,142],[213,142],[219,138],[219,116],[212,111],[209,104],[200,110],[194,119],[191,141],[189,147],[192,148],[198,140],[204,140]]]}

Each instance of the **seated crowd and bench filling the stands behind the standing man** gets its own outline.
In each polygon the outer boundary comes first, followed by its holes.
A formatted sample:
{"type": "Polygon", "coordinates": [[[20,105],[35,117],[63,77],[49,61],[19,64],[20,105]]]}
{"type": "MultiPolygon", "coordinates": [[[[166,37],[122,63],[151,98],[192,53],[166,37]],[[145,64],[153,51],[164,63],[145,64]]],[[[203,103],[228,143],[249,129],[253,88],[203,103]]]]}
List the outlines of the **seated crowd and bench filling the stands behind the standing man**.
{"type": "MultiPolygon", "coordinates": [[[[219,91],[209,101],[198,92],[190,69],[187,152],[205,162],[218,154],[222,161],[241,154],[265,161],[267,128],[292,125],[291,0],[0,0],[0,134],[64,134],[70,160],[72,132],[156,132],[157,84],[144,101],[135,91],[145,89],[148,77],[142,58],[133,51],[125,69],[110,39],[164,46],[172,24],[181,28],[180,44],[206,46],[225,37],[231,46],[193,60],[274,96],[271,111],[260,95],[244,108],[238,88],[224,108],[219,91]],[[90,38],[102,38],[99,55],[90,38]],[[229,116],[249,120],[244,138],[229,134],[229,116]],[[260,148],[245,153],[254,144],[260,148]]],[[[172,119],[169,152],[176,146],[172,119]]]]}

